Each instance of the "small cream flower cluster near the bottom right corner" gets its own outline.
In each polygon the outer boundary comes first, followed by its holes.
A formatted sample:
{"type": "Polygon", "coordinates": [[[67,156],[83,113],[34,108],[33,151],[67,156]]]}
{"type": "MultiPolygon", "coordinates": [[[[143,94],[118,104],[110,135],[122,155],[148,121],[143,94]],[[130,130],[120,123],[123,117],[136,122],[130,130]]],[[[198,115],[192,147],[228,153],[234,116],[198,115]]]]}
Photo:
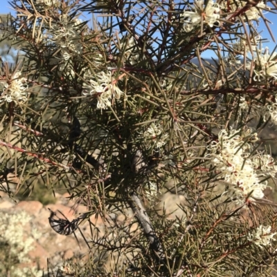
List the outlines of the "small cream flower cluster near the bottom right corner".
{"type": "Polygon", "coordinates": [[[275,235],[276,232],[271,233],[271,226],[260,225],[253,233],[247,235],[247,239],[262,248],[262,246],[271,245],[271,241],[276,240],[275,235]]]}

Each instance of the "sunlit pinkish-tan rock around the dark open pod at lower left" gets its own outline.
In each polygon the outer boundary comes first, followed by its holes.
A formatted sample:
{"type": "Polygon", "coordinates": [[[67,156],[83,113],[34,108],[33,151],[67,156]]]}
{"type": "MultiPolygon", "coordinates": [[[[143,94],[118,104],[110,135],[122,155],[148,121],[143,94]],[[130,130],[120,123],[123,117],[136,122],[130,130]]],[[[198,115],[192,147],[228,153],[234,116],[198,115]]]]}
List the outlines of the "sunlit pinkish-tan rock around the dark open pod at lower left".
{"type": "MultiPolygon", "coordinates": [[[[67,203],[70,204],[69,201],[67,201],[67,203]]],[[[79,207],[79,211],[87,211],[86,206],[79,207]]],[[[4,212],[19,213],[19,211],[25,211],[31,216],[32,219],[30,222],[24,225],[24,237],[33,237],[35,233],[40,233],[40,236],[37,236],[36,240],[33,241],[34,248],[28,253],[30,262],[27,262],[28,265],[26,266],[39,268],[44,271],[47,271],[47,261],[51,261],[51,266],[56,267],[57,265],[62,265],[62,260],[69,260],[75,256],[83,256],[88,251],[88,247],[79,230],[75,231],[75,236],[74,234],[62,236],[53,231],[48,222],[48,218],[51,214],[48,208],[57,212],[57,216],[63,218],[62,214],[58,212],[61,211],[70,221],[75,219],[78,215],[76,211],[73,211],[71,207],[65,204],[48,204],[43,207],[42,203],[38,201],[21,201],[19,204],[15,204],[5,199],[0,202],[0,209],[7,210],[4,212]],[[76,238],[78,238],[78,241],[76,238]]],[[[96,219],[96,216],[93,215],[90,220],[93,224],[97,225],[98,229],[102,230],[102,232],[98,233],[98,236],[102,235],[105,231],[102,219],[100,217],[96,219]]],[[[93,234],[97,233],[93,225],[91,228],[94,230],[93,234]]],[[[84,230],[84,236],[88,238],[91,237],[91,228],[89,227],[88,220],[85,220],[85,222],[80,225],[80,230],[84,230]]],[[[19,265],[19,267],[20,266],[21,265],[19,265]]]]}

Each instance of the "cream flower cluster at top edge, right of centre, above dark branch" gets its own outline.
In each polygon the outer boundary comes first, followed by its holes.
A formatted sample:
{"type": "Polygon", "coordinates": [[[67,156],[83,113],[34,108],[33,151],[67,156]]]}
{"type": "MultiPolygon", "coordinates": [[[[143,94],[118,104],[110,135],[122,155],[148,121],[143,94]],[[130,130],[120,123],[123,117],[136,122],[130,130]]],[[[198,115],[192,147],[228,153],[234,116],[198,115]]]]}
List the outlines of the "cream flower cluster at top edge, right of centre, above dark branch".
{"type": "Polygon", "coordinates": [[[218,19],[220,19],[220,6],[214,3],[213,0],[208,0],[205,7],[204,0],[195,0],[194,6],[194,12],[186,11],[182,15],[182,17],[184,17],[184,30],[186,32],[190,32],[195,26],[199,26],[202,16],[203,22],[210,27],[213,27],[215,22],[218,22],[218,19]]]}

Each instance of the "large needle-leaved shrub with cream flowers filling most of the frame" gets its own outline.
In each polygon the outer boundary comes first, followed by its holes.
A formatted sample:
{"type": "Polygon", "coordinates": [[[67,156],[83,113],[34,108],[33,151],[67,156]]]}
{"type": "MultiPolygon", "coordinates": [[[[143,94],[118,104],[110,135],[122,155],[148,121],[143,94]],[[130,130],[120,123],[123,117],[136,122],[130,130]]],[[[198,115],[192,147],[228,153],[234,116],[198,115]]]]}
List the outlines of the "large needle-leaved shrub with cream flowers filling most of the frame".
{"type": "Polygon", "coordinates": [[[1,68],[1,160],[87,206],[58,233],[104,222],[59,274],[271,276],[277,54],[257,22],[274,1],[11,5],[1,30],[24,54],[1,68]]]}

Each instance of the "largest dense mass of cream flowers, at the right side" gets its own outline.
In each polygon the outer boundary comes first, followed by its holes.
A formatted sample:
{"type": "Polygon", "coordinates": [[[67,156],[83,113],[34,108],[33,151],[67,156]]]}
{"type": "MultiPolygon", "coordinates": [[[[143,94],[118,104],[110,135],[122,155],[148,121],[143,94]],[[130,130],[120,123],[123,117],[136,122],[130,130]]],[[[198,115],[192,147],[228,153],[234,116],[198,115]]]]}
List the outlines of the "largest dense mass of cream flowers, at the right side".
{"type": "Polygon", "coordinates": [[[267,182],[260,182],[259,177],[275,175],[277,166],[270,155],[250,157],[252,147],[238,135],[239,131],[231,130],[229,134],[226,130],[220,131],[218,142],[212,142],[207,148],[218,177],[230,184],[224,194],[237,204],[243,204],[264,197],[267,182]]]}

